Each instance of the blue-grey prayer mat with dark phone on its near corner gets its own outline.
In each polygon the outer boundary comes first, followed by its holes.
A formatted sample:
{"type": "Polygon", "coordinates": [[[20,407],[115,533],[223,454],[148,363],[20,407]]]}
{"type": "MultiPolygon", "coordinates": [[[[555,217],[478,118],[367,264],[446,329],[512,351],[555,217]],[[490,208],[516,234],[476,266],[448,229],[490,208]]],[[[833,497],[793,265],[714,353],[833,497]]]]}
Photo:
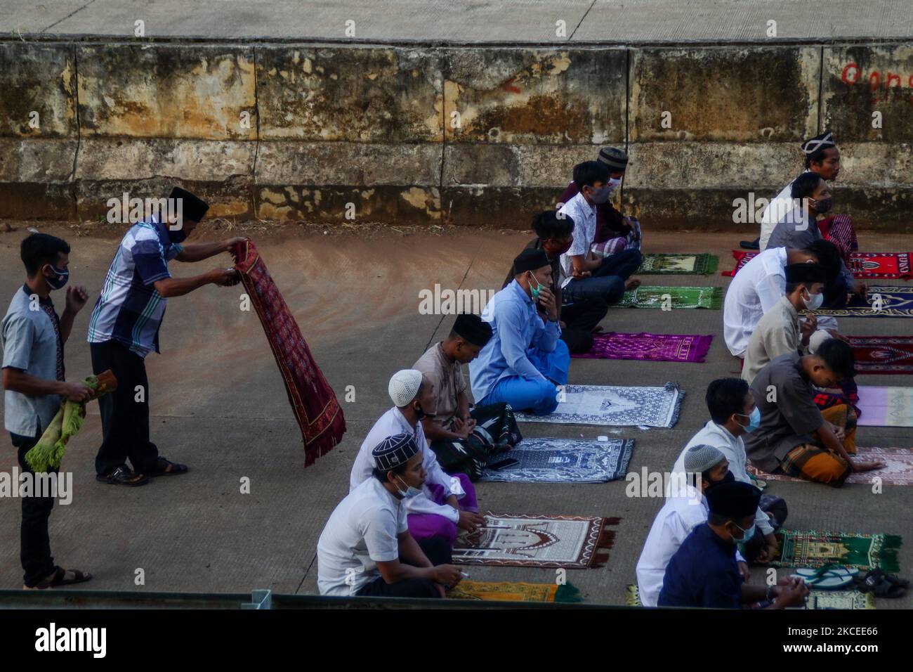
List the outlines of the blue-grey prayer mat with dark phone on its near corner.
{"type": "Polygon", "coordinates": [[[513,450],[498,453],[498,462],[513,459],[503,469],[486,469],[480,481],[509,483],[605,483],[624,478],[634,439],[523,439],[513,450]]]}

